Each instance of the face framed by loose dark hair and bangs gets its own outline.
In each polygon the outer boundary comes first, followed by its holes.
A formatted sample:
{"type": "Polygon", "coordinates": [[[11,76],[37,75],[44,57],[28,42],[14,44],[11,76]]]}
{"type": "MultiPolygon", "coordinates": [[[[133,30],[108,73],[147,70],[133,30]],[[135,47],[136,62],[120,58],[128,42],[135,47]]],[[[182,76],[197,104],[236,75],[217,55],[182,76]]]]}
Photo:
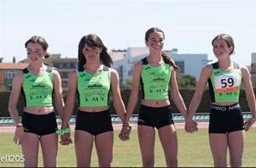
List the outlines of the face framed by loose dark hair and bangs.
{"type": "Polygon", "coordinates": [[[86,43],[84,44],[83,54],[87,60],[99,59],[101,53],[102,53],[102,48],[90,47],[86,43]]]}

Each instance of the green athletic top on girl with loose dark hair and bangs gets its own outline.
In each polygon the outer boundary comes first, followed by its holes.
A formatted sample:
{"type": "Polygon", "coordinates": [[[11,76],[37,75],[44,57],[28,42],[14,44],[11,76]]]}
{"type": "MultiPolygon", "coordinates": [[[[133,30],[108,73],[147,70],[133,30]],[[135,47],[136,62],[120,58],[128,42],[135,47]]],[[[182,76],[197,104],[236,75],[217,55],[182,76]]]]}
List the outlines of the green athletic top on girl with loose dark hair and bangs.
{"type": "Polygon", "coordinates": [[[103,66],[103,69],[96,74],[88,73],[83,66],[79,67],[79,107],[107,106],[110,83],[110,69],[107,66],[103,66]]]}

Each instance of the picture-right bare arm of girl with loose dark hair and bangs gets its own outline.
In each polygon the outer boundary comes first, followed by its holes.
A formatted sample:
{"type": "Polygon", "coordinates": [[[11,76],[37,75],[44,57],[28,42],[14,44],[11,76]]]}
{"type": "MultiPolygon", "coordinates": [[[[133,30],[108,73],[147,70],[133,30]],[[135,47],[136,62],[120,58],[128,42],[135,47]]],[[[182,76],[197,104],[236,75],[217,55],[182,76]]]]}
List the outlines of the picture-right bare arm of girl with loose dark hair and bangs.
{"type": "Polygon", "coordinates": [[[111,93],[113,95],[113,107],[116,113],[120,116],[123,123],[125,123],[125,104],[122,100],[119,88],[119,75],[116,70],[111,69],[111,93]]]}

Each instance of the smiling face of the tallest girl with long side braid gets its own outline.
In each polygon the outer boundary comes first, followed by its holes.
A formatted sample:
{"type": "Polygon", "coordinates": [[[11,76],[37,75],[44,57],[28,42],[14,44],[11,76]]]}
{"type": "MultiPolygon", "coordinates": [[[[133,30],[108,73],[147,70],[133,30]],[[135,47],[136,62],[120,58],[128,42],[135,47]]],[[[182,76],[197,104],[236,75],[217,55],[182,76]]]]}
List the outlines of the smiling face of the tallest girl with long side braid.
{"type": "Polygon", "coordinates": [[[150,51],[162,51],[164,48],[164,40],[165,37],[162,32],[154,31],[149,34],[148,42],[146,42],[146,45],[150,51]]]}

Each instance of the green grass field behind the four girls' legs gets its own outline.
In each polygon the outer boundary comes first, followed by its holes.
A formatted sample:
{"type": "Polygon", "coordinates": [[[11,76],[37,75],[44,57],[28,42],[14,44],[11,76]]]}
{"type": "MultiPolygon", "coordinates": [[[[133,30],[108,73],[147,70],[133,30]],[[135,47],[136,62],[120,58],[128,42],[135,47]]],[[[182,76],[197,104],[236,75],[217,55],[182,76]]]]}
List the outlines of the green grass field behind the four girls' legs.
{"type": "MultiPolygon", "coordinates": [[[[113,147],[113,163],[116,167],[140,167],[141,156],[138,146],[137,131],[131,132],[131,139],[122,142],[118,138],[119,131],[115,131],[113,147]]],[[[13,142],[14,133],[1,133],[0,139],[0,158],[6,155],[20,155],[21,148],[13,142]]],[[[178,136],[178,166],[212,166],[212,154],[208,143],[207,129],[200,129],[199,132],[189,134],[183,130],[177,130],[178,136]]],[[[252,167],[256,165],[256,128],[246,132],[246,143],[243,154],[243,166],[252,167]]],[[[155,143],[155,166],[166,166],[165,156],[160,145],[158,136],[155,143]]],[[[22,167],[22,163],[3,163],[0,167],[22,167]]],[[[39,164],[42,165],[42,155],[39,154],[39,164]]],[[[59,146],[58,166],[76,166],[74,146],[59,146]]],[[[95,148],[91,159],[91,166],[98,166],[95,148]]]]}

